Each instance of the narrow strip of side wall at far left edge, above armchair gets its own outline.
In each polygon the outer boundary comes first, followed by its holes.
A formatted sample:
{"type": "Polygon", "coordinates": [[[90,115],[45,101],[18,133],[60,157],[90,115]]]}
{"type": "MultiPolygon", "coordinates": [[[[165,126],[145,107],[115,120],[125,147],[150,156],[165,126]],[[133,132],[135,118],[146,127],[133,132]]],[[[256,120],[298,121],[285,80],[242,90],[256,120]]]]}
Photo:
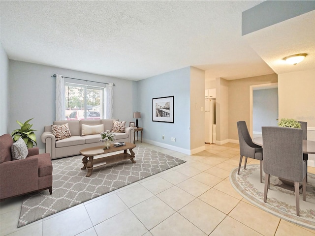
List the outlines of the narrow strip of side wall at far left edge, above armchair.
{"type": "Polygon", "coordinates": [[[8,99],[9,59],[0,43],[0,135],[8,131],[9,99],[8,99]]]}

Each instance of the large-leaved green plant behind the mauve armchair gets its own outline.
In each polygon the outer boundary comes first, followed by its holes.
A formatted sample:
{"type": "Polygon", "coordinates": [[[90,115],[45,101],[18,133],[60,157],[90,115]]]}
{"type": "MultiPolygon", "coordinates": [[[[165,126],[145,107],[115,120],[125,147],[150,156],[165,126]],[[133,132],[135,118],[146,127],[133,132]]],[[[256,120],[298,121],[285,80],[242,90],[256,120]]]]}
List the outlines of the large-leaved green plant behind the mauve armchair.
{"type": "Polygon", "coordinates": [[[36,130],[31,129],[31,127],[33,125],[29,124],[30,120],[32,120],[32,119],[29,119],[29,120],[25,121],[24,123],[17,120],[16,122],[21,126],[21,128],[14,130],[11,134],[11,137],[13,138],[14,142],[18,141],[19,138],[22,137],[22,139],[24,140],[24,142],[28,148],[32,148],[34,144],[37,146],[36,136],[33,132],[36,130]]]}

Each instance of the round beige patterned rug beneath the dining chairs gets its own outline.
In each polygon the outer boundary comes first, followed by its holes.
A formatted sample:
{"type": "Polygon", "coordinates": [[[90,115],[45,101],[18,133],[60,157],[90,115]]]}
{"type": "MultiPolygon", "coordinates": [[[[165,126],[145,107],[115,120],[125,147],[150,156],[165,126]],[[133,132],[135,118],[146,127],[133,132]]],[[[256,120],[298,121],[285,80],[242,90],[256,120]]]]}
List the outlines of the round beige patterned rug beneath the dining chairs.
{"type": "MultiPolygon", "coordinates": [[[[306,183],[306,201],[300,194],[300,216],[296,215],[294,191],[279,187],[281,180],[270,176],[270,189],[267,194],[267,203],[264,203],[265,179],[260,183],[259,165],[248,165],[246,170],[238,168],[230,173],[230,182],[233,187],[253,205],[272,213],[280,218],[315,230],[315,175],[308,173],[306,183]]],[[[263,173],[264,174],[264,173],[263,173]]],[[[302,191],[302,190],[301,190],[302,191]]]]}

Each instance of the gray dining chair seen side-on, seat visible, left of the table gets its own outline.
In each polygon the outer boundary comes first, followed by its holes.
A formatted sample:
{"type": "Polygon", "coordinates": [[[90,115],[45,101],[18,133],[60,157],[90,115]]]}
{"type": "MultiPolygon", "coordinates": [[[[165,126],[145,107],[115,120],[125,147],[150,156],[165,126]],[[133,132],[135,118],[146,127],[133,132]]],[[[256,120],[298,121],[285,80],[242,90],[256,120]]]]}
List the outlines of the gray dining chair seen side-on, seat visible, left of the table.
{"type": "Polygon", "coordinates": [[[262,183],[262,148],[252,142],[245,121],[237,121],[238,139],[240,142],[240,164],[237,174],[240,174],[243,156],[245,156],[244,169],[246,169],[247,158],[253,158],[260,161],[260,182],[262,183]]]}

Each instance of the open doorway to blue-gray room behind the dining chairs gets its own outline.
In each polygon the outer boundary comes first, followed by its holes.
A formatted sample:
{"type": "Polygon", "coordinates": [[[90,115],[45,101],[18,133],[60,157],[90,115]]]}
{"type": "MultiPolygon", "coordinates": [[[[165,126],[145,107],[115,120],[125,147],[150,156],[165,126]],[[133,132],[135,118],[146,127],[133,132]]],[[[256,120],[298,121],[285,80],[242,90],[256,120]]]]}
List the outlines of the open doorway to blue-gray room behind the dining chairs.
{"type": "Polygon", "coordinates": [[[261,136],[261,126],[278,123],[278,83],[250,86],[250,134],[261,136]]]}

